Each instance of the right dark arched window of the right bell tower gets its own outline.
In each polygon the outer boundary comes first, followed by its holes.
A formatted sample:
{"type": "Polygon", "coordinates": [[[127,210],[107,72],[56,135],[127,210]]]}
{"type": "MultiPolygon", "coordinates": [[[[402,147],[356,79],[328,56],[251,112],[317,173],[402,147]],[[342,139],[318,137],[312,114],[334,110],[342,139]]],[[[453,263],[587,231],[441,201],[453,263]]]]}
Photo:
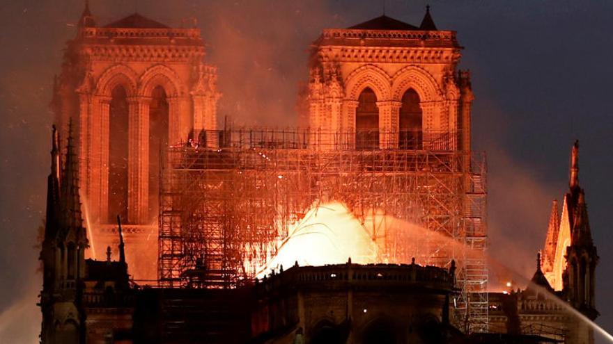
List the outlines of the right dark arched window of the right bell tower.
{"type": "Polygon", "coordinates": [[[398,122],[398,148],[421,149],[421,106],[419,95],[412,88],[403,95],[398,122]]]}

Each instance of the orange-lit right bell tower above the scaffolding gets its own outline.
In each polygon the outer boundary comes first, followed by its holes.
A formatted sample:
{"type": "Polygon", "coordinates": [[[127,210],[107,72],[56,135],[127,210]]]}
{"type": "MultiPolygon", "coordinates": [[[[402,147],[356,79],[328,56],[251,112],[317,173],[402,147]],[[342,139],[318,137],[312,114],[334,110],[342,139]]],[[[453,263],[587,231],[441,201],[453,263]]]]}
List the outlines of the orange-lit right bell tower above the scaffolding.
{"type": "Polygon", "coordinates": [[[419,26],[383,15],[325,29],[311,47],[304,125],[320,146],[437,149],[452,134],[444,149],[470,151],[470,74],[456,68],[456,33],[437,29],[429,8],[419,26]]]}

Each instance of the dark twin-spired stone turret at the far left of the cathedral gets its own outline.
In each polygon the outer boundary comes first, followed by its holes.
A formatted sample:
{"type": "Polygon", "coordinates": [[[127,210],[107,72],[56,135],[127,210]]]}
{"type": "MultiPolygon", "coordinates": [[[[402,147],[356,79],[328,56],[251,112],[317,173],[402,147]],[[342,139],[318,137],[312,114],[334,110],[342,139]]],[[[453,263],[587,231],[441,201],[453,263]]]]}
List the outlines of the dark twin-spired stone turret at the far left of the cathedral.
{"type": "Polygon", "coordinates": [[[52,167],[47,180],[45,238],[40,252],[43,270],[40,293],[42,343],[79,343],[84,338],[81,295],[84,250],[88,240],[81,214],[79,167],[72,125],[69,125],[66,150],[62,168],[59,133],[54,126],[52,167]]]}

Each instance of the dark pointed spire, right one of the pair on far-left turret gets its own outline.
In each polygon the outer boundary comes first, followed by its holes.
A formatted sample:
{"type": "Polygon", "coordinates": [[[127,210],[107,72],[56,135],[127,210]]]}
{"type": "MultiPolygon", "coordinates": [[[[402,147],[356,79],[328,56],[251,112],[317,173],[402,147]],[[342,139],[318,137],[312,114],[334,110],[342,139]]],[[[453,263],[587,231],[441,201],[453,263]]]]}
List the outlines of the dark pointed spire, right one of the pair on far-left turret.
{"type": "Polygon", "coordinates": [[[79,161],[72,138],[72,120],[68,123],[68,147],[61,181],[63,225],[66,229],[82,229],[81,197],[79,197],[79,161]]]}

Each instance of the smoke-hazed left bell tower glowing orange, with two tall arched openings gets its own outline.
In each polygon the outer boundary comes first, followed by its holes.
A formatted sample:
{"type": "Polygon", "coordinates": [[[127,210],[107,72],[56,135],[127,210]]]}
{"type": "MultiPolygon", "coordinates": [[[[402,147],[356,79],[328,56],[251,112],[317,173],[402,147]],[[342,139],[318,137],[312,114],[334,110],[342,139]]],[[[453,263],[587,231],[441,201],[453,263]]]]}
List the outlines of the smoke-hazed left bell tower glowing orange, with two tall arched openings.
{"type": "MultiPolygon", "coordinates": [[[[52,109],[61,137],[68,121],[75,123],[94,251],[111,245],[96,239],[117,215],[136,246],[147,231],[154,236],[148,249],[155,247],[160,152],[189,137],[217,145],[216,136],[203,135],[217,129],[220,97],[217,70],[204,56],[199,28],[171,28],[137,13],[102,26],[86,3],[54,83],[52,109]]],[[[155,252],[150,260],[155,265],[155,252]]],[[[130,263],[138,275],[139,264],[130,263]]]]}

